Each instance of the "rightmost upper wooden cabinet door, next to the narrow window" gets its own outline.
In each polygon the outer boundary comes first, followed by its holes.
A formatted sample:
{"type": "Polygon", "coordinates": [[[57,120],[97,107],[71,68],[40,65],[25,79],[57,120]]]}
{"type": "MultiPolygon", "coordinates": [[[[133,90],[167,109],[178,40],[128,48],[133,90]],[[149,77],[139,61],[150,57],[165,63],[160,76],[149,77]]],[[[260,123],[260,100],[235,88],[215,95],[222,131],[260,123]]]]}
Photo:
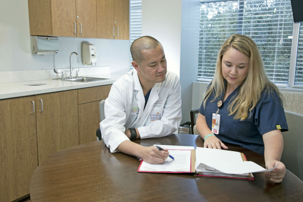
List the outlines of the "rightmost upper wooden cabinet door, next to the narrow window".
{"type": "Polygon", "coordinates": [[[115,39],[129,40],[128,0],[115,0],[115,39]]]}

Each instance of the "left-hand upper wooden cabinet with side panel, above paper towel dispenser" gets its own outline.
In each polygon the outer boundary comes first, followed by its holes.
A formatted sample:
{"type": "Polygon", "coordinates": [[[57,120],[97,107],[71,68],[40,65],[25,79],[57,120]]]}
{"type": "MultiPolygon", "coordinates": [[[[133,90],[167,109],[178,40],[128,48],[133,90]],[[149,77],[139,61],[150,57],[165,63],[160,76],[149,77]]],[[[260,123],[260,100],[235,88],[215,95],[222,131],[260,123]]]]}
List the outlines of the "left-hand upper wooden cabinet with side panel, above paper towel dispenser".
{"type": "Polygon", "coordinates": [[[28,0],[30,35],[97,37],[96,0],[28,0]]]}

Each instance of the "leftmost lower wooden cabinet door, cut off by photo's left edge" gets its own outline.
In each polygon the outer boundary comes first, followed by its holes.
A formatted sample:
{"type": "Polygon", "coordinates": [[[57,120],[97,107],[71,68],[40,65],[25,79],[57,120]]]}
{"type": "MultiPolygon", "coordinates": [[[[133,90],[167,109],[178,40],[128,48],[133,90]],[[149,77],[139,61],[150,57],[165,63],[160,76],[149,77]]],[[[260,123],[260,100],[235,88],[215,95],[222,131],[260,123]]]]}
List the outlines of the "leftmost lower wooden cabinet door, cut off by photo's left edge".
{"type": "Polygon", "coordinates": [[[35,96],[0,100],[0,201],[29,194],[38,166],[35,96]]]}

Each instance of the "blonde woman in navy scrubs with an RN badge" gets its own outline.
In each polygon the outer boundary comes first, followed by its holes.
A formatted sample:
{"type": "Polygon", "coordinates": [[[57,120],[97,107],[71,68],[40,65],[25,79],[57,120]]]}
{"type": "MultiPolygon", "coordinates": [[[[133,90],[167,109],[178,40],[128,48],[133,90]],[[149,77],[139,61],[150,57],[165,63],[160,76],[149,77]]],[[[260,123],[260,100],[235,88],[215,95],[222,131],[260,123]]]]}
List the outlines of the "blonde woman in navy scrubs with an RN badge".
{"type": "Polygon", "coordinates": [[[199,110],[196,127],[204,147],[228,149],[223,142],[238,144],[264,155],[265,172],[281,182],[285,165],[281,131],[287,131],[281,94],[265,73],[255,42],[235,34],[222,45],[213,80],[199,110]]]}

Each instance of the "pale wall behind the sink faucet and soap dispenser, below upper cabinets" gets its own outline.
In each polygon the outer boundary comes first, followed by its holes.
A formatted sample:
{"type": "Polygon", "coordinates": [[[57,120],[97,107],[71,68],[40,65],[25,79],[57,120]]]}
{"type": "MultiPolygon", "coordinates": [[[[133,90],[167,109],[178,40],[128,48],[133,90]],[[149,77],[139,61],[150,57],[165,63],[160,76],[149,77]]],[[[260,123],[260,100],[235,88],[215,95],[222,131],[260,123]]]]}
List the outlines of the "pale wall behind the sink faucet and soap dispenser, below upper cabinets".
{"type": "Polygon", "coordinates": [[[69,68],[69,55],[74,51],[81,63],[73,55],[73,67],[87,67],[81,61],[83,41],[96,46],[97,66],[111,66],[112,72],[129,71],[128,40],[59,37],[57,54],[32,55],[27,1],[0,0],[0,72],[69,68]]]}

